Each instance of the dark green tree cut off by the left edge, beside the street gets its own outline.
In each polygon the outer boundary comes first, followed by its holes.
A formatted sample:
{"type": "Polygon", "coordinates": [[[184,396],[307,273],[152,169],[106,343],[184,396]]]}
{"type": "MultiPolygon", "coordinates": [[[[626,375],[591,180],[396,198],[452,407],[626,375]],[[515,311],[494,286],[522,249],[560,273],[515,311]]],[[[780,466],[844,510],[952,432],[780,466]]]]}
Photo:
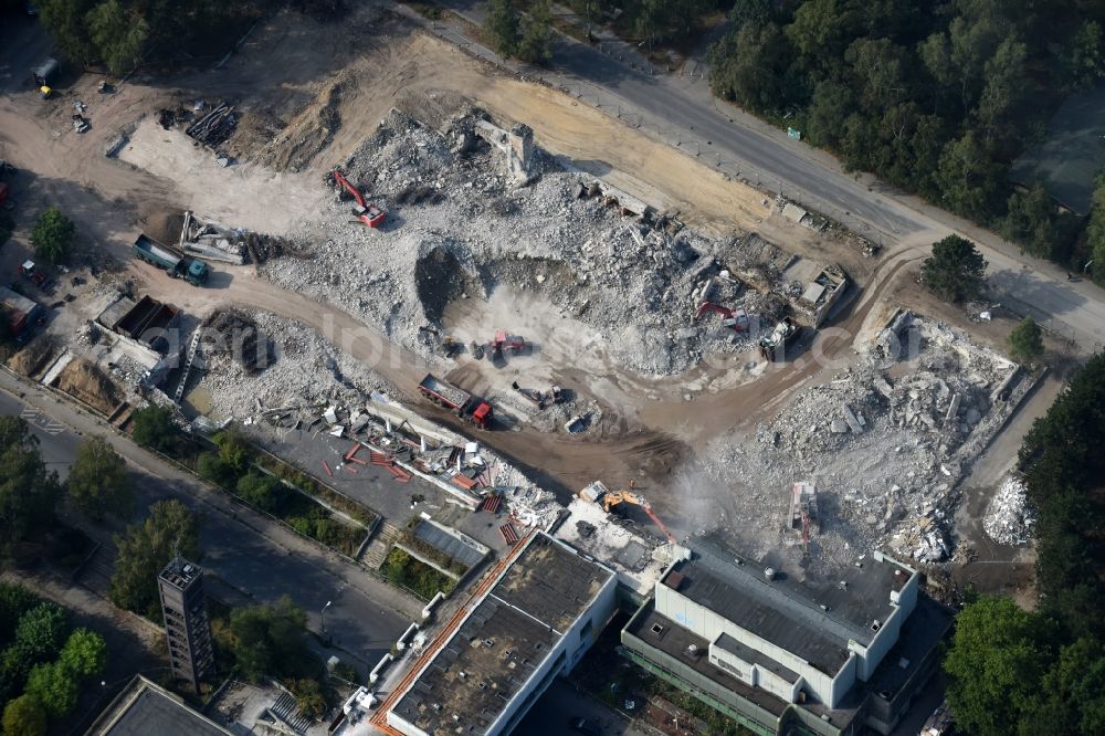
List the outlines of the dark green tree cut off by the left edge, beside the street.
{"type": "Polygon", "coordinates": [[[39,439],[20,417],[0,417],[0,556],[18,542],[50,525],[60,485],[46,472],[39,454],[39,439]]]}

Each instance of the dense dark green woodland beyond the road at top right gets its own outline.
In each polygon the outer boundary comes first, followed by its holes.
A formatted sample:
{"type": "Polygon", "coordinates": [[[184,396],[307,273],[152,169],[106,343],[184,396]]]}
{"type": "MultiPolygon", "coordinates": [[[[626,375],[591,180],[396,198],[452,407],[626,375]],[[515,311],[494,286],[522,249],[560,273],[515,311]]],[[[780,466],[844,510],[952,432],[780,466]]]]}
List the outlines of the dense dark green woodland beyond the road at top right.
{"type": "Polygon", "coordinates": [[[1008,172],[1062,97],[1105,78],[1105,9],[1057,0],[737,0],[711,51],[714,91],[801,130],[1035,255],[1076,223],[1008,172]]]}

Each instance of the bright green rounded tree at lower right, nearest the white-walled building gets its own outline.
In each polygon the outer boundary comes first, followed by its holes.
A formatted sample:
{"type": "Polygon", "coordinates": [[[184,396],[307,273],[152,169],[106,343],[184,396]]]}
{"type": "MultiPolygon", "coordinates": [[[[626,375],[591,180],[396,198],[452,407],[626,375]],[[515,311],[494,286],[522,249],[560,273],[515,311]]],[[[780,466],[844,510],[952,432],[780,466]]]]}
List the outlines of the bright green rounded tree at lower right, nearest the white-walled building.
{"type": "Polygon", "coordinates": [[[977,736],[1015,733],[1052,655],[1048,642],[1041,620],[1008,598],[965,608],[944,660],[956,726],[977,736]]]}

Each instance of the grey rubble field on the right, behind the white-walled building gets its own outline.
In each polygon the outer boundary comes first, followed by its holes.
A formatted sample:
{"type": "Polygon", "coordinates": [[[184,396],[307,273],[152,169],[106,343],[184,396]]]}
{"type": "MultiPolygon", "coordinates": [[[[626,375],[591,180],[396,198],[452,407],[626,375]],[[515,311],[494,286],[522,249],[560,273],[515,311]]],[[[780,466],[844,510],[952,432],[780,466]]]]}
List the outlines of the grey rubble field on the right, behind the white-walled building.
{"type": "MultiPolygon", "coordinates": [[[[786,528],[785,544],[798,545],[783,518],[787,493],[812,480],[822,500],[814,565],[846,564],[883,545],[919,562],[950,556],[957,486],[1034,379],[909,312],[895,315],[863,358],[798,393],[755,438],[719,439],[702,453],[708,481],[693,484],[684,508],[703,532],[729,526],[766,554],[786,528]],[[755,480],[745,488],[735,477],[755,480]],[[722,500],[695,491],[709,483],[736,487],[722,500]]],[[[1024,526],[1008,528],[1017,536],[1024,526]]]]}

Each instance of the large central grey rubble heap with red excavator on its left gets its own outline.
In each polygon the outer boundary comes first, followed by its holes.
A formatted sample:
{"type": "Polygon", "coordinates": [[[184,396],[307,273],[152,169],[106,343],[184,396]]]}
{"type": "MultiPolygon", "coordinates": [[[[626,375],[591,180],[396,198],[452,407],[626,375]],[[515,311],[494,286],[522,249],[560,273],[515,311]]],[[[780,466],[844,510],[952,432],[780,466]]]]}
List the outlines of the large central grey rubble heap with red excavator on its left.
{"type": "Polygon", "coordinates": [[[735,275],[735,262],[748,261],[743,249],[760,239],[714,240],[683,228],[562,170],[520,128],[504,132],[470,112],[436,132],[392,111],[338,167],[388,211],[383,224],[365,227],[335,190],[330,217],[304,233],[313,257],[273,260],[263,273],[427,357],[445,307],[497,286],[543,295],[601,335],[612,361],[644,375],[753,348],[760,323],[770,332],[786,302],[771,293],[779,269],[762,265],[762,284],[735,275]],[[745,309],[749,329],[727,329],[714,314],[696,319],[704,299],[745,309]]]}

